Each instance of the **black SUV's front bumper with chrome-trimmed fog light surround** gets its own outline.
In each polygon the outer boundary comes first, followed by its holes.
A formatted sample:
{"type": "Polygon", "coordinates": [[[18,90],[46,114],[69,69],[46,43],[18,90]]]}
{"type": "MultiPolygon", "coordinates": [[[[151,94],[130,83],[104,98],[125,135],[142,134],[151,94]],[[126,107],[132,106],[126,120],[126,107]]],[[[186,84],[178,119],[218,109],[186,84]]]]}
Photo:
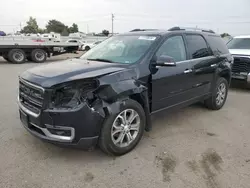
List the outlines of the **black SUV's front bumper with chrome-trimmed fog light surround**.
{"type": "Polygon", "coordinates": [[[18,100],[20,119],[32,135],[53,144],[89,149],[97,144],[104,118],[87,104],[77,110],[34,114],[18,100]]]}

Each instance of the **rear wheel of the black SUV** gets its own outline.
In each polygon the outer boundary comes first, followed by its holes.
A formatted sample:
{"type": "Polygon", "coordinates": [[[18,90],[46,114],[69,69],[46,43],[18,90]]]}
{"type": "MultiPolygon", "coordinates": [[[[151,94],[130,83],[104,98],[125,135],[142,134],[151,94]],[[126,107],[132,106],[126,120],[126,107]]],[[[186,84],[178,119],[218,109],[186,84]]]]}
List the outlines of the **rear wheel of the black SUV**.
{"type": "Polygon", "coordinates": [[[211,110],[221,109],[227,100],[228,88],[229,86],[227,80],[220,77],[212,91],[212,96],[205,100],[205,106],[211,110]]]}

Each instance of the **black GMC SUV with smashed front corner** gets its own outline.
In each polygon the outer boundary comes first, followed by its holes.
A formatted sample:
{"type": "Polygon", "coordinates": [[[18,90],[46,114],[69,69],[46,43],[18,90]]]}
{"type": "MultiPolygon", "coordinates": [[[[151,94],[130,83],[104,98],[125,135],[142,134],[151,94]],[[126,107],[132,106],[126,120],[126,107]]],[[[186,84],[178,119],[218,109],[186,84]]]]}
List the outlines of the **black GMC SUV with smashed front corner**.
{"type": "Polygon", "coordinates": [[[131,151],[150,115],[199,101],[213,110],[227,98],[233,58],[211,30],[135,31],[83,56],[32,68],[19,78],[24,127],[58,145],[131,151]]]}

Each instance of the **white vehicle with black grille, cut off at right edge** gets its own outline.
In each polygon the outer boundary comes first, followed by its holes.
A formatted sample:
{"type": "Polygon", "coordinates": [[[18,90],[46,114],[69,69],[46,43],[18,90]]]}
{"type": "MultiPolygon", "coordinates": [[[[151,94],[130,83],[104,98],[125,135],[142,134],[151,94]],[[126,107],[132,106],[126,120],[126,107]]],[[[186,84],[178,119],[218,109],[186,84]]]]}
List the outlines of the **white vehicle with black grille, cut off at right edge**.
{"type": "Polygon", "coordinates": [[[250,35],[236,36],[227,43],[227,46],[234,57],[232,79],[250,85],[250,35]]]}

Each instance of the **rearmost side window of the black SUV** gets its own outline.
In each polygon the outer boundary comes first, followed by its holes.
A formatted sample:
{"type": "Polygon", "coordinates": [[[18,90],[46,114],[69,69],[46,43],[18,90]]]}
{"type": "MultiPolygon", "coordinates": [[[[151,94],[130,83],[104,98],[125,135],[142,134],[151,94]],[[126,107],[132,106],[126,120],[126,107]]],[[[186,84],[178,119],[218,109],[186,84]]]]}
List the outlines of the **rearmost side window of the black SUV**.
{"type": "Polygon", "coordinates": [[[208,43],[215,55],[229,53],[225,41],[220,36],[209,36],[208,39],[208,43]]]}

